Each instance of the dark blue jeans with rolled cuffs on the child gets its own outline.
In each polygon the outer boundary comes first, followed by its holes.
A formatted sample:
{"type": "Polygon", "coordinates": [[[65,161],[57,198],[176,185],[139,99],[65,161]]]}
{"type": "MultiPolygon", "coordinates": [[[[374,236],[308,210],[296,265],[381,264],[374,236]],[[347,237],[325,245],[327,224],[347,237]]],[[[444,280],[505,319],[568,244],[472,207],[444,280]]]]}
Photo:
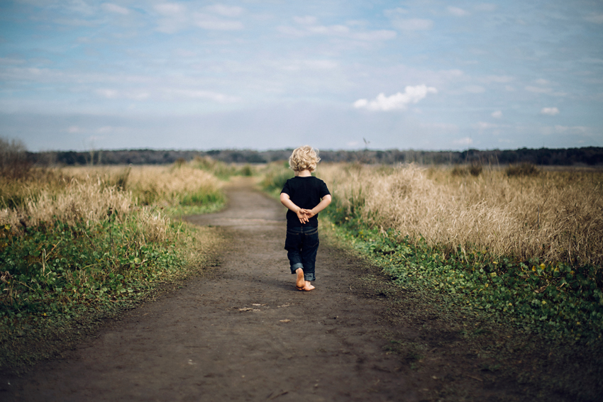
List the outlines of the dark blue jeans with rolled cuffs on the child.
{"type": "Polygon", "coordinates": [[[287,250],[292,274],[295,274],[296,269],[302,268],[306,281],[316,280],[314,265],[316,252],[319,250],[319,228],[287,228],[284,250],[287,250]]]}

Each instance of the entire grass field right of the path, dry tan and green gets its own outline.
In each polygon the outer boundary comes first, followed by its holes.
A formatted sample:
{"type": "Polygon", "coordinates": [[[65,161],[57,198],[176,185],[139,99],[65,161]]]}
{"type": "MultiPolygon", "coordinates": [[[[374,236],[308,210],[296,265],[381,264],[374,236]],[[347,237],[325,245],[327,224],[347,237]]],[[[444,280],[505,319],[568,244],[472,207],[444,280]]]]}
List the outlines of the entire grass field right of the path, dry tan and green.
{"type": "MultiPolygon", "coordinates": [[[[333,228],[402,286],[571,339],[603,334],[603,172],[320,164],[333,228]]],[[[278,192],[292,177],[266,169],[278,192]]]]}

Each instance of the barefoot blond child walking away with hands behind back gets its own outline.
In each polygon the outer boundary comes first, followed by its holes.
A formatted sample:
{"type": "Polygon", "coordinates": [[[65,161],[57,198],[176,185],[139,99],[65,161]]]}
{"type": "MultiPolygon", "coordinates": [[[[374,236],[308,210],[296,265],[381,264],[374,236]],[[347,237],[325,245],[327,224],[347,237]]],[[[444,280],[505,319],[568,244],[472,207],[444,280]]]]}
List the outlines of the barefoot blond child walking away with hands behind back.
{"type": "Polygon", "coordinates": [[[331,203],[331,193],[326,184],[312,172],[321,159],[316,151],[304,145],[293,151],[289,167],[295,177],[287,180],[280,194],[280,201],[287,211],[287,239],[284,249],[291,264],[291,273],[297,274],[295,286],[300,291],[314,289],[314,264],[319,249],[318,213],[331,203]]]}

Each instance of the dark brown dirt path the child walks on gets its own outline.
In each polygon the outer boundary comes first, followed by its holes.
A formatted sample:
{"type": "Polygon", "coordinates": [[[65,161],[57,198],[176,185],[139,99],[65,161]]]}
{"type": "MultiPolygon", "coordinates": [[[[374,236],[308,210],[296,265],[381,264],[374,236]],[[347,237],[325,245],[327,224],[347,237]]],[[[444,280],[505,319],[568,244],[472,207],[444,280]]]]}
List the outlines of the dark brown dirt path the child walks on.
{"type": "Polygon", "coordinates": [[[516,349],[504,344],[503,326],[394,286],[328,240],[326,228],[316,290],[298,291],[283,250],[284,208],[245,179],[228,188],[228,200],[224,211],[186,218],[220,228],[226,242],[217,267],[109,321],[59,358],[1,375],[0,399],[595,401],[603,394],[589,376],[578,376],[591,381],[582,396],[539,383],[534,376],[550,377],[542,368],[548,350],[521,341],[526,354],[509,357],[516,349]]]}

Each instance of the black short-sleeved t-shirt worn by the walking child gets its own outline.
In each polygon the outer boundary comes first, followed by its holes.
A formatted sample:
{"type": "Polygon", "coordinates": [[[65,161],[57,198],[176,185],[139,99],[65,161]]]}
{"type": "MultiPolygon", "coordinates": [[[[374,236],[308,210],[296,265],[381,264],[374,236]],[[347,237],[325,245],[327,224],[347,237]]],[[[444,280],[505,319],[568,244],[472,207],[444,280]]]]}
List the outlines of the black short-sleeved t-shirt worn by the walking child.
{"type": "MultiPolygon", "coordinates": [[[[328,192],[325,182],[314,176],[292,177],[284,184],[281,193],[289,194],[289,199],[299,208],[312,209],[319,205],[321,199],[331,194],[328,192]]],[[[299,228],[301,226],[311,226],[313,228],[319,225],[319,214],[312,216],[308,223],[302,225],[297,218],[297,213],[290,209],[287,210],[287,228],[299,228]]]]}

